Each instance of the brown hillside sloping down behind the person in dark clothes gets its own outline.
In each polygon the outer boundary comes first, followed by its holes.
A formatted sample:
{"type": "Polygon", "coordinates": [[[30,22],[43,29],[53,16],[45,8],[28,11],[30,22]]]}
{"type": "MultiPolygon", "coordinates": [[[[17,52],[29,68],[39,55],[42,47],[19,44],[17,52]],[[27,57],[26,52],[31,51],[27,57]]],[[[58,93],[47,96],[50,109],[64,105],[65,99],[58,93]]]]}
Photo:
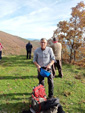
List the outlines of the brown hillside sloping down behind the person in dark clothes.
{"type": "MultiPolygon", "coordinates": [[[[3,45],[3,55],[25,55],[25,46],[29,40],[23,39],[0,31],[0,42],[3,45]]],[[[39,41],[30,41],[33,44],[33,51],[39,46],[39,41]]]]}

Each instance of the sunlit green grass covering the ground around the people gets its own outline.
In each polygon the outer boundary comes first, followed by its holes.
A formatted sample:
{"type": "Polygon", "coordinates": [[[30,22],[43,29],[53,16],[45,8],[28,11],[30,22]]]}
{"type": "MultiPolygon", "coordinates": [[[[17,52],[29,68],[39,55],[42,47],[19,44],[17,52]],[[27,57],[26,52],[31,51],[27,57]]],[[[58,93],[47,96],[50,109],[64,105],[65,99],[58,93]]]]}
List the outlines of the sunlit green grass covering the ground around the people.
{"type": "MultiPolygon", "coordinates": [[[[62,79],[54,78],[54,96],[60,99],[66,113],[85,113],[84,69],[63,63],[63,74],[62,79]]],[[[25,56],[3,57],[0,61],[0,113],[28,110],[32,88],[37,84],[37,69],[32,60],[25,56]]],[[[45,89],[48,95],[46,78],[45,89]]]]}

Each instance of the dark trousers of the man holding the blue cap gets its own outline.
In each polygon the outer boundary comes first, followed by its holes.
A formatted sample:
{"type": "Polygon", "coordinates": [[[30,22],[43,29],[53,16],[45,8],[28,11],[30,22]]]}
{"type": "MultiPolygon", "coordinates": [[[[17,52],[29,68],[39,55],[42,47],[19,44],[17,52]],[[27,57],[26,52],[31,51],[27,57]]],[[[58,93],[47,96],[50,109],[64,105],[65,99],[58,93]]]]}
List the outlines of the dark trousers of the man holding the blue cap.
{"type": "MultiPolygon", "coordinates": [[[[49,70],[49,72],[51,73],[51,75],[48,77],[48,89],[49,89],[48,96],[49,96],[49,98],[51,98],[51,97],[53,97],[54,85],[53,85],[52,70],[49,70]]],[[[38,79],[39,79],[39,84],[42,84],[44,86],[44,77],[42,77],[39,72],[38,72],[38,79]]]]}

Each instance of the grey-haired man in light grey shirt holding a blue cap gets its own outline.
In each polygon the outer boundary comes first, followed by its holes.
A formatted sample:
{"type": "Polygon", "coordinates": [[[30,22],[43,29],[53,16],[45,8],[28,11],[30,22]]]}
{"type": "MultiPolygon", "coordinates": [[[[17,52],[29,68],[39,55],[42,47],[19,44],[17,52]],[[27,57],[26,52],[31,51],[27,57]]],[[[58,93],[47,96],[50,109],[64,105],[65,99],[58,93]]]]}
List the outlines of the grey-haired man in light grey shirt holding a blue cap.
{"type": "Polygon", "coordinates": [[[48,77],[48,89],[49,89],[48,97],[52,98],[54,85],[51,66],[54,63],[55,56],[53,54],[52,48],[47,47],[47,40],[45,38],[42,38],[40,40],[40,45],[41,47],[37,48],[34,51],[33,62],[38,70],[39,84],[44,85],[44,77],[40,75],[40,68],[43,68],[50,72],[50,76],[48,77]]]}

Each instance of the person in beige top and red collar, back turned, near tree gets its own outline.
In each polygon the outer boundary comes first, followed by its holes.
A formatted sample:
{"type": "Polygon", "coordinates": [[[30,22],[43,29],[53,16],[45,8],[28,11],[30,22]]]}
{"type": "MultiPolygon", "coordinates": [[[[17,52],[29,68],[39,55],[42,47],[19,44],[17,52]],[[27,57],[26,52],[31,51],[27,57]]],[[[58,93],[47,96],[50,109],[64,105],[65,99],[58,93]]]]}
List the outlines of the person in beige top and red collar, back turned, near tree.
{"type": "Polygon", "coordinates": [[[55,63],[54,63],[54,66],[55,66],[55,69],[57,67],[58,69],[58,73],[59,73],[59,77],[63,77],[63,73],[62,73],[62,62],[61,62],[61,52],[62,52],[62,45],[61,43],[59,43],[57,41],[56,38],[53,38],[53,44],[51,44],[51,47],[53,49],[53,52],[54,52],[54,55],[55,55],[55,63]]]}

